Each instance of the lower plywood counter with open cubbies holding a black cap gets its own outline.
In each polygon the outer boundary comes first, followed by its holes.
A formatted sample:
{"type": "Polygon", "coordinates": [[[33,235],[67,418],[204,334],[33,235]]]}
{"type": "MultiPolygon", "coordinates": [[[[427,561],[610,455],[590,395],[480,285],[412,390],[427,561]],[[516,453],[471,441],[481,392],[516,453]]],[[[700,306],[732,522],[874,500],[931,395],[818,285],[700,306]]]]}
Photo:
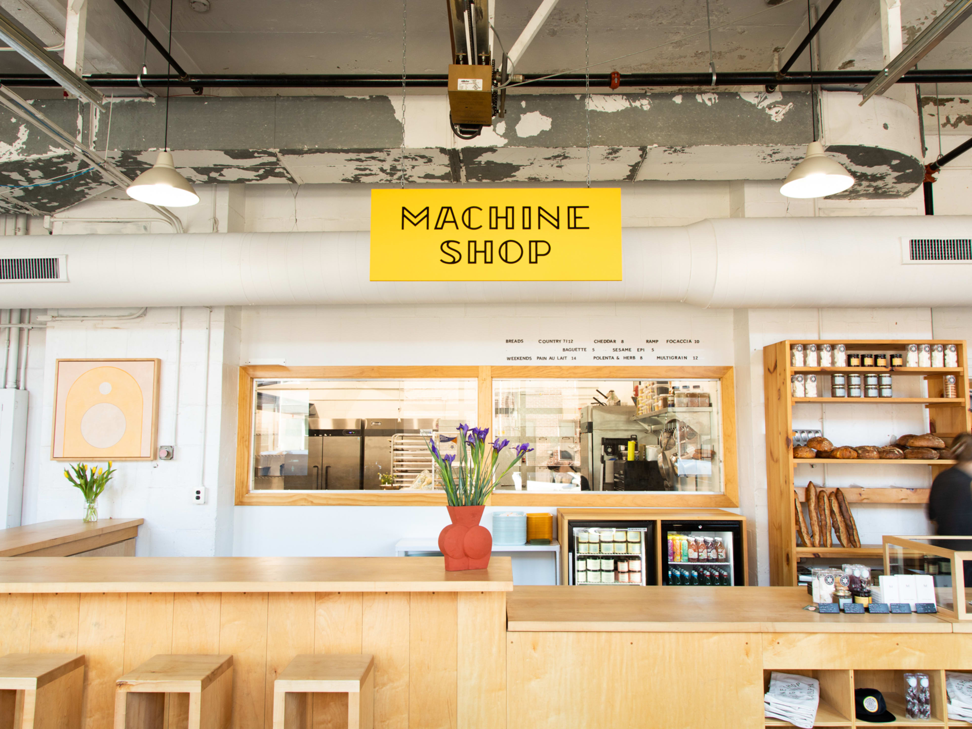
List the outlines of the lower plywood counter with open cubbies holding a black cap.
{"type": "Polygon", "coordinates": [[[788,726],[763,716],[773,671],[818,678],[816,725],[848,729],[874,726],[853,718],[855,685],[885,691],[894,711],[902,672],[923,671],[940,720],[915,723],[946,726],[943,672],[972,672],[972,635],[936,615],[821,615],[810,603],[799,587],[517,587],[506,726],[788,726]]]}

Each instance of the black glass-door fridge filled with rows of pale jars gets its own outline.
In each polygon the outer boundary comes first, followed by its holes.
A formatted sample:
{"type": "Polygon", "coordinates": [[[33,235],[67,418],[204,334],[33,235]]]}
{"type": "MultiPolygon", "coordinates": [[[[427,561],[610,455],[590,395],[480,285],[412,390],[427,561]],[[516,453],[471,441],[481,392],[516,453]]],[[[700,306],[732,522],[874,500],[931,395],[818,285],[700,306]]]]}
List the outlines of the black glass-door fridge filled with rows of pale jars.
{"type": "Polygon", "coordinates": [[[569,584],[657,584],[654,532],[651,521],[572,521],[569,584]]]}

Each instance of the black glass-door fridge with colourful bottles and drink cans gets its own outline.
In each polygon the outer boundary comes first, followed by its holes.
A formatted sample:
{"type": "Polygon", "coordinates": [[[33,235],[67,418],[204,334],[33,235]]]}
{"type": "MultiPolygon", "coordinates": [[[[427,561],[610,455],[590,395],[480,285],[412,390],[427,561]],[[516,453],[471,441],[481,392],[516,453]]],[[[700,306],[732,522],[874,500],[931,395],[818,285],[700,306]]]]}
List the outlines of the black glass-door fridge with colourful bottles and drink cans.
{"type": "Polygon", "coordinates": [[[738,521],[661,523],[663,585],[743,585],[743,529],[738,521]]]}

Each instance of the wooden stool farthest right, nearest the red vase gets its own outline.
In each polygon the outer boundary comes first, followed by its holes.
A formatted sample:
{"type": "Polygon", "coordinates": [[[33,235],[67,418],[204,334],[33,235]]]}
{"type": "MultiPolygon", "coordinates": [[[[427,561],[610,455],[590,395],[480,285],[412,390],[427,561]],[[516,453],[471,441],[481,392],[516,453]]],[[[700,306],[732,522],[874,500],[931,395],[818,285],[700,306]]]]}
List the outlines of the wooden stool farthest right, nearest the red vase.
{"type": "Polygon", "coordinates": [[[372,729],[374,657],[298,655],[273,681],[273,729],[304,729],[312,693],[348,694],[348,729],[372,729]]]}

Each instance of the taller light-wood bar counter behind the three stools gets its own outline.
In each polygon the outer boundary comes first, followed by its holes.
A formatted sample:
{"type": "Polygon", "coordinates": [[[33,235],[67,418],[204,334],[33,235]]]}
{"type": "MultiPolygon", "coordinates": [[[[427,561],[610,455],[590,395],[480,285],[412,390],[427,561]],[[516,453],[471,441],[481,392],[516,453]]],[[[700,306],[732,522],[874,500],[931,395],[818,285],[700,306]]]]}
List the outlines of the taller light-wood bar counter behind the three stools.
{"type": "MultiPolygon", "coordinates": [[[[301,653],[375,657],[375,727],[502,727],[508,557],[0,559],[0,655],[84,653],[84,727],[115,680],[161,653],[233,655],[234,729],[269,729],[273,680],[301,653]]],[[[346,725],[315,697],[313,726],[346,725]]],[[[342,718],[343,717],[343,718],[342,718]]]]}

